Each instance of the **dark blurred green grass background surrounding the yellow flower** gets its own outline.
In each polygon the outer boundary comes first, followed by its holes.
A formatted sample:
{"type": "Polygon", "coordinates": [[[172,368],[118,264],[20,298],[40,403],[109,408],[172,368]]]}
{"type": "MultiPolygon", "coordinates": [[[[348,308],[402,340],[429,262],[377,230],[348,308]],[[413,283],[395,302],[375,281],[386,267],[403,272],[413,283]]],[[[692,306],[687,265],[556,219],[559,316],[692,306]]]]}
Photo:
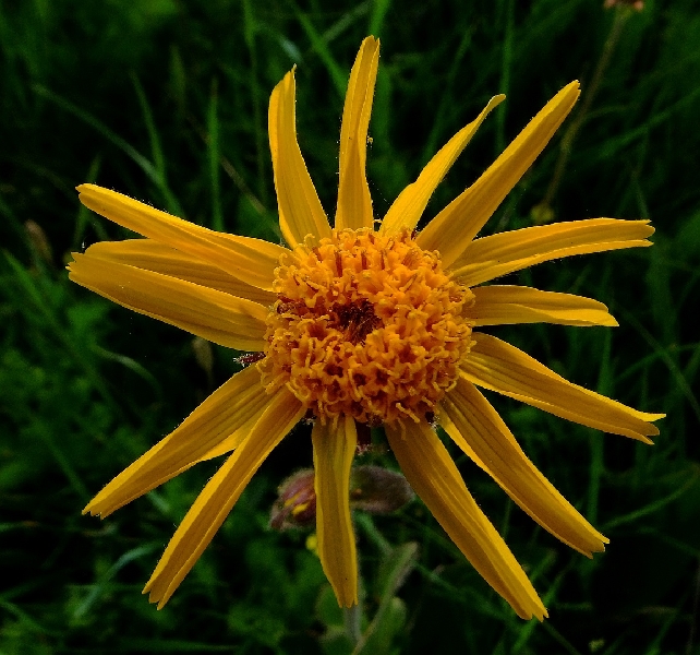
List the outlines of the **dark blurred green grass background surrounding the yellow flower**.
{"type": "MultiPolygon", "coordinates": [[[[655,246],[507,278],[598,298],[619,327],[492,332],[667,418],[644,446],[493,397],[610,537],[607,551],[571,551],[458,457],[551,618],[518,619],[417,501],[357,513],[362,652],[700,653],[697,0],[642,11],[602,0],[0,0],[0,653],[350,652],[307,533],[267,527],[279,483],[311,465],[307,426],[266,462],[161,611],[141,588],[217,462],[105,522],[81,516],[238,370],[239,354],[111,305],[63,266],[71,250],[128,236],[80,206],[84,181],[278,241],[267,100],[293,63],[301,147],[331,213],[345,86],[367,34],[382,39],[369,152],[378,216],[491,96],[508,99],[427,217],[581,80],[571,117],[486,231],[642,217],[655,246]]],[[[381,443],[359,462],[394,466],[381,443]]]]}

